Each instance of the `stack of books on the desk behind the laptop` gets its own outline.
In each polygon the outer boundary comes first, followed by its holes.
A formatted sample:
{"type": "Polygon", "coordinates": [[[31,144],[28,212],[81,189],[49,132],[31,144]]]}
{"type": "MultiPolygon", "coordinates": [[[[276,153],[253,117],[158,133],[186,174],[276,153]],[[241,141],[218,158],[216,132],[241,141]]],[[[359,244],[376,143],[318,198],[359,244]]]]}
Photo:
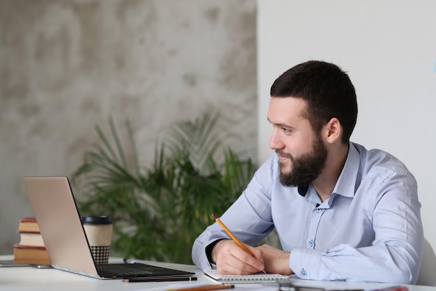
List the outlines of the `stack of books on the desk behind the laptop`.
{"type": "Polygon", "coordinates": [[[51,264],[36,218],[21,218],[18,233],[20,243],[13,246],[15,263],[51,264]]]}

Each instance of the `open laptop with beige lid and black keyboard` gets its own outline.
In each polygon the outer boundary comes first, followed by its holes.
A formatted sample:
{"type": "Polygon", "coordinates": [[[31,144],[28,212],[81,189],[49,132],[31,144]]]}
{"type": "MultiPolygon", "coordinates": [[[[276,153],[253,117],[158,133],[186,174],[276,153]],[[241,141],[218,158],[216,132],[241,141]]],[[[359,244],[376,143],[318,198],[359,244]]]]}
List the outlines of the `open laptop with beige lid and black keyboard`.
{"type": "Polygon", "coordinates": [[[101,279],[194,275],[150,264],[95,264],[68,177],[24,177],[24,184],[54,268],[101,279]]]}

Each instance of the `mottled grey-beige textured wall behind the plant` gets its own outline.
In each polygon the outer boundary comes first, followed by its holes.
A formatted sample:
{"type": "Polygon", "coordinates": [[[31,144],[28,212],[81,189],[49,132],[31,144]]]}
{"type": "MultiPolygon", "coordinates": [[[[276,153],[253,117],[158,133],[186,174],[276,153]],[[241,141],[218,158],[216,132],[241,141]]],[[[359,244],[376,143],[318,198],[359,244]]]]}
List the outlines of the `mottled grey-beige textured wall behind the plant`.
{"type": "Polygon", "coordinates": [[[0,254],[31,215],[22,177],[70,175],[93,126],[132,121],[139,154],[213,105],[256,156],[256,1],[0,0],[0,254]]]}

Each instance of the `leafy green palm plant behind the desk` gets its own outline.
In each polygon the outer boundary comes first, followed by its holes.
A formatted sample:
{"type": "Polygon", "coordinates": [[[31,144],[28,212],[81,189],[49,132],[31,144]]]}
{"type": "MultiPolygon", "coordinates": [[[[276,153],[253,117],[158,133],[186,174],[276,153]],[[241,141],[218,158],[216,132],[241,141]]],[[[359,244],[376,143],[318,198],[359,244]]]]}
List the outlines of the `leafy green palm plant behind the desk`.
{"type": "Polygon", "coordinates": [[[194,239],[242,193],[255,167],[222,141],[218,114],[205,111],[182,121],[157,143],[153,165],[142,167],[132,127],[126,121],[126,151],[114,121],[112,140],[96,130],[102,146],[88,151],[72,175],[86,193],[78,200],[83,215],[114,219],[113,254],[144,260],[191,263],[194,239]]]}

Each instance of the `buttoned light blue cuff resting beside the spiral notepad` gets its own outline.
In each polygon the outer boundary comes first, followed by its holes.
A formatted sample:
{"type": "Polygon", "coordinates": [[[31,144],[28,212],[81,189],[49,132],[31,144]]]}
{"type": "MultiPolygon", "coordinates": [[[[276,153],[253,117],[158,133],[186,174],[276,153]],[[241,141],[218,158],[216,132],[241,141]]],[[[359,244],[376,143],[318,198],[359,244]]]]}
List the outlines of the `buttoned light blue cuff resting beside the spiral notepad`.
{"type": "Polygon", "coordinates": [[[323,251],[312,248],[293,248],[290,252],[289,267],[299,278],[319,280],[319,267],[323,253],[323,251]]]}

